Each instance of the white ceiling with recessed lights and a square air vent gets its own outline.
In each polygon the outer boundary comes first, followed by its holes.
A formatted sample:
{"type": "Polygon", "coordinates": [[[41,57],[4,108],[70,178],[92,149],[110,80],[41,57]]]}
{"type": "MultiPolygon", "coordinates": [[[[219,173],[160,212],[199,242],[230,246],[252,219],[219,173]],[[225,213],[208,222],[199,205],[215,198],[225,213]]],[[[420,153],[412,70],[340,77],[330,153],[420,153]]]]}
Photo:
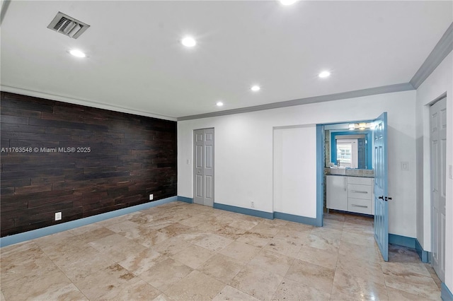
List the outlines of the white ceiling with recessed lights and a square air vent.
{"type": "Polygon", "coordinates": [[[1,85],[176,118],[408,83],[452,23],[452,4],[11,1],[1,85]],[[47,25],[58,11],[91,27],[76,40],[56,33],[47,25]],[[187,34],[196,47],[180,45],[187,34]],[[318,78],[325,69],[331,77],[318,78]]]}

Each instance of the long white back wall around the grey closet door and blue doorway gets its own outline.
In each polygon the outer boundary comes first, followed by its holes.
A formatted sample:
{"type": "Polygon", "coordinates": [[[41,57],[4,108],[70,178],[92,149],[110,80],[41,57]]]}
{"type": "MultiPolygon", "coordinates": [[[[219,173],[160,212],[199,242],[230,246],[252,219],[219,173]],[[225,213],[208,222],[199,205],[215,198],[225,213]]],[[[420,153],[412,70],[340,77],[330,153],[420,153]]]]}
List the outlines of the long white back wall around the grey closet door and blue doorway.
{"type": "Polygon", "coordinates": [[[312,148],[304,160],[315,163],[315,124],[374,119],[384,111],[389,113],[389,196],[394,199],[389,232],[415,237],[415,90],[178,122],[178,195],[193,197],[193,130],[214,127],[216,203],[250,208],[253,200],[256,210],[266,212],[286,210],[293,202],[316,206],[316,172],[302,163],[298,177],[314,175],[294,195],[309,197],[273,204],[273,129],[308,126],[295,135],[312,148]],[[408,171],[401,170],[401,161],[409,163],[408,171]]]}

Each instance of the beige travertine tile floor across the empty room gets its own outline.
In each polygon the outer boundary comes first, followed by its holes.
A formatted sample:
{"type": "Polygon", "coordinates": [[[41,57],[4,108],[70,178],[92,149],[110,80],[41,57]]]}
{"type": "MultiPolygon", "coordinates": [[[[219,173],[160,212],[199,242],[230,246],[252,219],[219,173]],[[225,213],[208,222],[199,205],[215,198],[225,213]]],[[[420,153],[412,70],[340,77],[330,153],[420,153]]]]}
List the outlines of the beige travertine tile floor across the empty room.
{"type": "Polygon", "coordinates": [[[372,219],[324,222],[167,203],[1,248],[1,300],[440,300],[411,249],[382,261],[372,219]]]}

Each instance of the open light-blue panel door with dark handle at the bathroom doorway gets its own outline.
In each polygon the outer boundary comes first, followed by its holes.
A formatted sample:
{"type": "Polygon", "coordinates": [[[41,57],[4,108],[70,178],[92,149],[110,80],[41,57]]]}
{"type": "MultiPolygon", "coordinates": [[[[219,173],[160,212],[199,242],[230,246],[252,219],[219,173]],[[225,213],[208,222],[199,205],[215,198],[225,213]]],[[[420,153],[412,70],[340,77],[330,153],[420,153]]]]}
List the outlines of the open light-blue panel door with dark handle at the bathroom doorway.
{"type": "Polygon", "coordinates": [[[387,177],[387,112],[374,121],[374,239],[382,258],[389,260],[389,203],[387,177]]]}

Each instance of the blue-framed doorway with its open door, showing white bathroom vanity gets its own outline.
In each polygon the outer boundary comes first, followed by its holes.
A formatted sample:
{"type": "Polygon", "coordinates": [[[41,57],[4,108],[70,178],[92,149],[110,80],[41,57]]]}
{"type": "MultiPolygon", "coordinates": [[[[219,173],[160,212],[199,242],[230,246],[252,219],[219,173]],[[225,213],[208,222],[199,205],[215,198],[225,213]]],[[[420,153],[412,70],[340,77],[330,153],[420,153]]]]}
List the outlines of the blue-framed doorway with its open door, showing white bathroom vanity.
{"type": "Polygon", "coordinates": [[[317,137],[321,220],[330,209],[373,218],[374,240],[388,261],[387,113],[374,120],[318,125],[317,137]]]}

